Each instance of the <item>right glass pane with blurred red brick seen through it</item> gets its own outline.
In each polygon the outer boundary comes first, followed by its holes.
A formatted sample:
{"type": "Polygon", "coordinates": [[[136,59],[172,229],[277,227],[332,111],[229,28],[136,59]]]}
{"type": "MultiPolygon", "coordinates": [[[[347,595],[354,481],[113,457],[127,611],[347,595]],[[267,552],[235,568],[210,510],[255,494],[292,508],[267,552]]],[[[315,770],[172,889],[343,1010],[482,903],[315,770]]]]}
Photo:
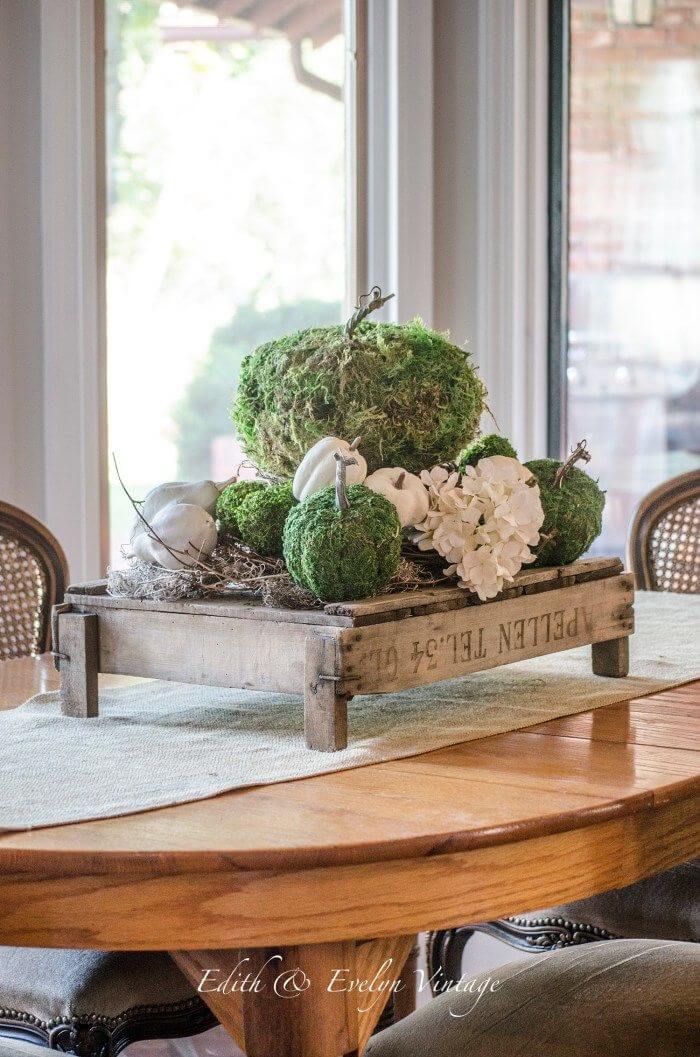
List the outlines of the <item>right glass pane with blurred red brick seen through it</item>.
{"type": "Polygon", "coordinates": [[[597,553],[700,462],[700,0],[640,7],[571,3],[568,441],[608,492],[597,553]]]}

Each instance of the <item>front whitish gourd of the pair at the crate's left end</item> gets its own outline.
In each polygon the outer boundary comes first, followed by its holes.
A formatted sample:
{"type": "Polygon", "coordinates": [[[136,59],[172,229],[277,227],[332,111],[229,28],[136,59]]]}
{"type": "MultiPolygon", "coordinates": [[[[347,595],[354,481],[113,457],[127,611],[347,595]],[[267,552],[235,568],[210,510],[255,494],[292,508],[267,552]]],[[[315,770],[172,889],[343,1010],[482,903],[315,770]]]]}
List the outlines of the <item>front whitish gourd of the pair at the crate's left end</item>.
{"type": "Polygon", "coordinates": [[[217,545],[214,518],[195,503],[174,500],[158,512],[150,525],[153,534],[145,528],[132,540],[131,550],[134,557],[163,569],[179,570],[194,565],[198,559],[208,558],[217,545]],[[174,553],[171,554],[171,551],[174,553]]]}

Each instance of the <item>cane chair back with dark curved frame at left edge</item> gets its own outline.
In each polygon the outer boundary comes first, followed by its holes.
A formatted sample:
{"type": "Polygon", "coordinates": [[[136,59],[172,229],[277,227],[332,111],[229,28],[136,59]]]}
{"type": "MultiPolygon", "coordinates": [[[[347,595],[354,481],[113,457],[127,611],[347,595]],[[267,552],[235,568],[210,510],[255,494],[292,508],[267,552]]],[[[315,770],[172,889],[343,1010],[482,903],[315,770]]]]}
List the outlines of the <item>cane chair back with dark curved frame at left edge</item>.
{"type": "Polygon", "coordinates": [[[51,649],[51,608],[67,583],[58,540],[30,514],[0,502],[0,660],[51,649]]]}

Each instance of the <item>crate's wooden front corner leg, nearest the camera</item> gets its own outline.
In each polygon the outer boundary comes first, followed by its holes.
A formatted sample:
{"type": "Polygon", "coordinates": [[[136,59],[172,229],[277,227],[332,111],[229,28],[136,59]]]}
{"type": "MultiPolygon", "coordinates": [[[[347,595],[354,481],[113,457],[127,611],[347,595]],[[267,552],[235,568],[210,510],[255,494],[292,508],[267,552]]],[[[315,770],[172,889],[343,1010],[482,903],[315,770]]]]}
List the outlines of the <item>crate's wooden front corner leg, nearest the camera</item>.
{"type": "Polygon", "coordinates": [[[348,744],[348,694],[337,693],[336,643],[320,636],[307,639],[303,733],[309,748],[334,753],[348,744]]]}

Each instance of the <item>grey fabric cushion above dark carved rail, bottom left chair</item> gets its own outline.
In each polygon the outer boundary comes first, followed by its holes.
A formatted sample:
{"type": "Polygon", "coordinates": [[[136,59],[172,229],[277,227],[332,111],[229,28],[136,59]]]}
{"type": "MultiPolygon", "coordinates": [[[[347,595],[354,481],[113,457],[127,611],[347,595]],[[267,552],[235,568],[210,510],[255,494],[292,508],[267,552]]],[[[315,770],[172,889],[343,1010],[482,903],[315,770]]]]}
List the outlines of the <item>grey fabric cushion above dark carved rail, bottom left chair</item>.
{"type": "Polygon", "coordinates": [[[39,1026],[201,999],[169,954],[0,947],[0,1020],[39,1026]],[[22,1016],[25,1015],[25,1016],[22,1016]]]}

